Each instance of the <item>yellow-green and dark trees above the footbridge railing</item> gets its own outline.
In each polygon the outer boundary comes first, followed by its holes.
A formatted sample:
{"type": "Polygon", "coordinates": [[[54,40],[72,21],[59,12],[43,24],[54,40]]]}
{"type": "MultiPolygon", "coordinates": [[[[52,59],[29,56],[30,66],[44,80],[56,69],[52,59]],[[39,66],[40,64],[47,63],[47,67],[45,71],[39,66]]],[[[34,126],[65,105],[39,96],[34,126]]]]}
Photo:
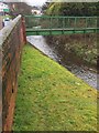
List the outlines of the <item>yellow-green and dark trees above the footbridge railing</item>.
{"type": "Polygon", "coordinates": [[[53,2],[47,4],[47,14],[61,16],[98,16],[99,2],[53,2]]]}

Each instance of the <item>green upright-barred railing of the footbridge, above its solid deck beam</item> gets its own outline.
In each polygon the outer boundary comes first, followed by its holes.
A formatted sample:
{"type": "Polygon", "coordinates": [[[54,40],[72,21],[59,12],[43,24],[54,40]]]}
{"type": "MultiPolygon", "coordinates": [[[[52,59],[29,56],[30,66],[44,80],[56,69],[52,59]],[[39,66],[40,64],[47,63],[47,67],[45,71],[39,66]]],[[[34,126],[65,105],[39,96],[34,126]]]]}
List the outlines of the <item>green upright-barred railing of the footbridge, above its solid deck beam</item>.
{"type": "Polygon", "coordinates": [[[97,17],[25,16],[28,29],[97,28],[97,17]]]}

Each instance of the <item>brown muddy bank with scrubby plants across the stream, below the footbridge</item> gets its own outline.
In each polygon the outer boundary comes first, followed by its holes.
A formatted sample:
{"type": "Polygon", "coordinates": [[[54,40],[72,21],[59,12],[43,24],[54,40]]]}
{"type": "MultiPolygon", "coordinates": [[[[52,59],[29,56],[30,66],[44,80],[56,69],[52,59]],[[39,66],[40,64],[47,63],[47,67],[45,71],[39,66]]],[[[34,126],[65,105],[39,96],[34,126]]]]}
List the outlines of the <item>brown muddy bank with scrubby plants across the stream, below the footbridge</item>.
{"type": "Polygon", "coordinates": [[[79,65],[97,69],[97,34],[67,34],[45,39],[46,43],[63,57],[62,60],[72,60],[79,65]]]}

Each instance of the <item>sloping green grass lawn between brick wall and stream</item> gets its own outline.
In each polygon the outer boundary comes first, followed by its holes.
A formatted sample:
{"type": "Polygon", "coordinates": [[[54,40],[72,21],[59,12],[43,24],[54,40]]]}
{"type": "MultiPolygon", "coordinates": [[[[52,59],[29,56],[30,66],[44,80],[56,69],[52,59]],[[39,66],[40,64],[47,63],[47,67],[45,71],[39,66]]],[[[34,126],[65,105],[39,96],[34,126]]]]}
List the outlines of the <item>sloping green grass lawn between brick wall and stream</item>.
{"type": "Polygon", "coordinates": [[[33,47],[25,45],[13,131],[96,130],[96,89],[33,47]]]}

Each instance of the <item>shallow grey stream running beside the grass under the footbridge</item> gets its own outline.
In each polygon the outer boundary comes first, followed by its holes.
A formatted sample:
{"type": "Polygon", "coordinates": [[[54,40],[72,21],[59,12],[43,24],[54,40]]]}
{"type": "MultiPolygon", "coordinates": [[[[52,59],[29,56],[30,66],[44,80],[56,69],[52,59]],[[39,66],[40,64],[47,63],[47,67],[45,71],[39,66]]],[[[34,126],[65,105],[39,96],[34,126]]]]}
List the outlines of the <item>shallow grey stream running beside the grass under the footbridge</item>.
{"type": "Polygon", "coordinates": [[[66,69],[68,69],[72,73],[76,74],[78,78],[82,79],[86,83],[88,83],[90,86],[98,89],[97,86],[97,73],[91,71],[91,69],[79,65],[79,63],[75,63],[74,57],[64,58],[65,54],[61,54],[57,52],[54,47],[50,47],[44,37],[42,35],[31,35],[28,37],[28,41],[34,45],[36,49],[42,51],[44,54],[50,57],[51,59],[57,61],[59,64],[64,65],[66,69]],[[74,60],[74,61],[73,61],[74,60]]]}

